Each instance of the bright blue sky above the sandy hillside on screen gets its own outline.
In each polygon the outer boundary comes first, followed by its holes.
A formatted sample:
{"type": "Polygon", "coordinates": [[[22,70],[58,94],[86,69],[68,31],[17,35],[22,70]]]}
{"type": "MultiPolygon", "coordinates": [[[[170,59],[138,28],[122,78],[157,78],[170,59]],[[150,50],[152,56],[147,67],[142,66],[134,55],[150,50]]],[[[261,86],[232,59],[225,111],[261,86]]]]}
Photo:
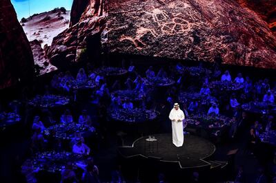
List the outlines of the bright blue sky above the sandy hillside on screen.
{"type": "Polygon", "coordinates": [[[17,19],[20,21],[23,17],[28,18],[32,14],[48,12],[57,7],[64,7],[66,10],[71,10],[72,1],[73,0],[12,0],[12,5],[17,12],[17,19]]]}

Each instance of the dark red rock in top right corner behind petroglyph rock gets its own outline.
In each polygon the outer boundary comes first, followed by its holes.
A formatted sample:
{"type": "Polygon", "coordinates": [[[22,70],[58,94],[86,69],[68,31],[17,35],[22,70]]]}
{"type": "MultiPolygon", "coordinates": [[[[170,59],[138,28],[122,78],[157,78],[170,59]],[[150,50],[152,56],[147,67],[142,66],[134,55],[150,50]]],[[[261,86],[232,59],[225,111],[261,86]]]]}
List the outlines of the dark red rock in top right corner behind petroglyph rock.
{"type": "Polygon", "coordinates": [[[276,35],[276,1],[275,0],[237,0],[242,7],[253,10],[276,35]]]}

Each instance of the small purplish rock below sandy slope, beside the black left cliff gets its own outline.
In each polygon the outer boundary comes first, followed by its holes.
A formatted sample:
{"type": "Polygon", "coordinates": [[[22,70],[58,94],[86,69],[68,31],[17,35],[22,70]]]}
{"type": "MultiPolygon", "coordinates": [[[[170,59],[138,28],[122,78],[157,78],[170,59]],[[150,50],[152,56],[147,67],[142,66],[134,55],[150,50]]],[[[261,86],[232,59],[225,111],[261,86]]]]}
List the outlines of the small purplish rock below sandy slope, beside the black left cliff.
{"type": "Polygon", "coordinates": [[[37,75],[46,74],[57,69],[57,67],[49,63],[49,60],[37,39],[30,41],[30,47],[32,48],[37,75]]]}

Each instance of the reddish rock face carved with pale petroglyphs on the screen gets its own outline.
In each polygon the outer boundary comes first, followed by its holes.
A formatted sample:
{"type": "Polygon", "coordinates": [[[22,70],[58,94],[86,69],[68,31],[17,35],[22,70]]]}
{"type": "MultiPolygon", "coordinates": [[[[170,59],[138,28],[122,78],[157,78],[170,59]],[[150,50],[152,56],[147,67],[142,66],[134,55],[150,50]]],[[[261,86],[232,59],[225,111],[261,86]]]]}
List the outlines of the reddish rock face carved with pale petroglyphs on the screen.
{"type": "Polygon", "coordinates": [[[235,0],[114,0],[108,3],[110,52],[276,69],[276,38],[235,0]]]}

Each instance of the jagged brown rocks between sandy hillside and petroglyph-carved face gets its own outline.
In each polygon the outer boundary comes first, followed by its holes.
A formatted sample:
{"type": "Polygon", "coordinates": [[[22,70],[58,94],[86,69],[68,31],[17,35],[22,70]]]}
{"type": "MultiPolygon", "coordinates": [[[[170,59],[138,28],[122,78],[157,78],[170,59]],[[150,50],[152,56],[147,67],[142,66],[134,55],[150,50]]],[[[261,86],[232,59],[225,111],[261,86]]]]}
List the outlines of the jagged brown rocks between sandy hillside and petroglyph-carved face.
{"type": "Polygon", "coordinates": [[[46,54],[50,63],[65,69],[70,63],[78,62],[86,50],[97,55],[101,47],[101,35],[106,26],[104,0],[77,1],[71,10],[70,28],[56,36],[46,54]]]}

